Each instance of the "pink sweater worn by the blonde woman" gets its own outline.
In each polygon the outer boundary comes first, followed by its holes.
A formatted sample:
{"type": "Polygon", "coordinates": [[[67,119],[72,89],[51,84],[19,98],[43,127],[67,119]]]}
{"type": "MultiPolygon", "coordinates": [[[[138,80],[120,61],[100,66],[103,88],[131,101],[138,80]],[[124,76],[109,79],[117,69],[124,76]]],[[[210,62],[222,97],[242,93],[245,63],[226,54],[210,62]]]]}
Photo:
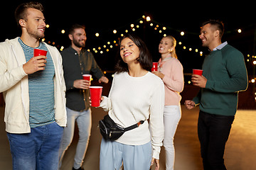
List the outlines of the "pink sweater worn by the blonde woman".
{"type": "MultiPolygon", "coordinates": [[[[161,64],[161,59],[159,60],[161,64]]],[[[165,106],[180,105],[181,91],[183,91],[183,67],[176,58],[163,62],[161,73],[164,74],[165,106]]]]}

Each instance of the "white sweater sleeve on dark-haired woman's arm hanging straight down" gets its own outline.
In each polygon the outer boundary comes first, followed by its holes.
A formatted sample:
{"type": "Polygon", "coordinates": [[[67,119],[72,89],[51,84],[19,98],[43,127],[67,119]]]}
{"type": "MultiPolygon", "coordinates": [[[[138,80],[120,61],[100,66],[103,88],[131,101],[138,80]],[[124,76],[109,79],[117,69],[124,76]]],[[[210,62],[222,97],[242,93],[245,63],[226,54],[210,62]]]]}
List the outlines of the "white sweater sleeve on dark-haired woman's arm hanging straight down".
{"type": "Polygon", "coordinates": [[[164,139],[164,84],[158,86],[151,96],[149,128],[151,131],[151,144],[153,156],[159,159],[159,154],[164,139]]]}

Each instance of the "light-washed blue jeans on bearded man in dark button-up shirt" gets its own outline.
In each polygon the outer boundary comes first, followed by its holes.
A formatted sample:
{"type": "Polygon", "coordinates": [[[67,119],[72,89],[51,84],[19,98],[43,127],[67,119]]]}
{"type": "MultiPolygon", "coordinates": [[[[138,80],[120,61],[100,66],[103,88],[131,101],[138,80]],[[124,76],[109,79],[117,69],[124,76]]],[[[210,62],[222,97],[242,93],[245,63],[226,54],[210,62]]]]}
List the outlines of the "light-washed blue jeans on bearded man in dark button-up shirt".
{"type": "Polygon", "coordinates": [[[70,146],[75,130],[75,121],[78,123],[79,130],[79,140],[78,145],[75,151],[75,159],[73,167],[79,169],[82,166],[83,159],[85,158],[85,152],[88,147],[90,130],[92,127],[92,115],[90,108],[87,111],[73,111],[67,108],[67,127],[64,128],[63,132],[63,142],[60,148],[60,162],[59,168],[62,164],[62,160],[65,154],[65,151],[70,146]]]}

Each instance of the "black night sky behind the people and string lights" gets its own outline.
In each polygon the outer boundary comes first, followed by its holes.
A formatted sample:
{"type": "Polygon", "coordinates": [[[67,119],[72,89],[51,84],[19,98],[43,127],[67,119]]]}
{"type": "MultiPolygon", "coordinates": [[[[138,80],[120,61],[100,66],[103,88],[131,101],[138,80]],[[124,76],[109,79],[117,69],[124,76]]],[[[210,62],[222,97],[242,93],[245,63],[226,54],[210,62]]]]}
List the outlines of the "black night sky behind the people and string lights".
{"type": "MultiPolygon", "coordinates": [[[[6,38],[16,38],[21,35],[21,30],[16,26],[14,11],[18,4],[24,1],[6,1],[1,6],[1,34],[0,41],[6,38]]],[[[187,2],[187,1],[40,1],[44,8],[46,24],[46,42],[54,46],[68,47],[68,28],[73,23],[85,25],[87,42],[85,49],[89,49],[102,70],[114,70],[115,57],[117,56],[118,38],[125,30],[128,33],[139,35],[146,42],[154,62],[159,60],[159,41],[166,35],[173,35],[177,40],[176,53],[178,60],[184,67],[184,72],[192,72],[192,68],[201,68],[204,55],[208,52],[201,47],[199,40],[200,26],[208,19],[219,19],[225,25],[223,42],[228,40],[245,55],[248,74],[252,75],[252,55],[255,53],[256,40],[256,12],[251,4],[241,1],[227,2],[187,2]],[[232,3],[232,4],[231,4],[232,3]],[[138,5],[139,4],[139,5],[138,5]],[[146,22],[142,16],[150,16],[151,21],[146,22]],[[139,23],[143,21],[143,23],[139,23]],[[132,31],[131,24],[135,31],[132,31]],[[153,26],[150,26],[153,23],[153,26]],[[156,25],[159,27],[156,28],[156,25]],[[139,28],[137,28],[139,26],[139,28]],[[166,30],[163,29],[166,28],[166,30]],[[156,30],[155,30],[156,28],[156,30]],[[238,29],[242,33],[238,33],[238,29]],[[65,33],[61,33],[65,30],[65,33]],[[117,30],[114,34],[113,30],[117,30]],[[159,30],[162,32],[159,33],[159,30]],[[185,34],[181,36],[181,31],[185,34]],[[96,37],[95,33],[100,36],[96,37]],[[116,43],[114,43],[114,40],[116,43]],[[107,45],[110,42],[110,45],[107,45]],[[181,45],[178,45],[181,42],[181,45]],[[106,47],[104,47],[106,45],[106,47]],[[184,46],[186,49],[184,50],[184,46]],[[100,50],[98,48],[100,47],[100,50]],[[92,49],[95,48],[97,53],[92,49]],[[191,51],[189,50],[191,48],[191,51]],[[109,49],[109,52],[106,50],[109,49]],[[198,52],[195,50],[198,49],[198,52]],[[102,51],[102,54],[100,53],[102,51]],[[199,54],[203,52],[203,56],[199,54]],[[250,57],[247,57],[250,55],[250,57]],[[250,61],[247,62],[247,59],[250,61]]]]}

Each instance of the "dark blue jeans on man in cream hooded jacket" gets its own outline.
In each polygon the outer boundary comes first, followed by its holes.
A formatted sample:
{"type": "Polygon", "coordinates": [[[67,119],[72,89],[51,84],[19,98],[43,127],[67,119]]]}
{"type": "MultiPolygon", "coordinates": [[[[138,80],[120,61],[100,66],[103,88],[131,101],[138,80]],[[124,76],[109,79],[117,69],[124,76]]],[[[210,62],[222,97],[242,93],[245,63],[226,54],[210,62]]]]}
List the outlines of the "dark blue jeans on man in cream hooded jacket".
{"type": "Polygon", "coordinates": [[[63,127],[57,123],[31,128],[30,133],[7,133],[13,169],[56,170],[63,127]]]}

